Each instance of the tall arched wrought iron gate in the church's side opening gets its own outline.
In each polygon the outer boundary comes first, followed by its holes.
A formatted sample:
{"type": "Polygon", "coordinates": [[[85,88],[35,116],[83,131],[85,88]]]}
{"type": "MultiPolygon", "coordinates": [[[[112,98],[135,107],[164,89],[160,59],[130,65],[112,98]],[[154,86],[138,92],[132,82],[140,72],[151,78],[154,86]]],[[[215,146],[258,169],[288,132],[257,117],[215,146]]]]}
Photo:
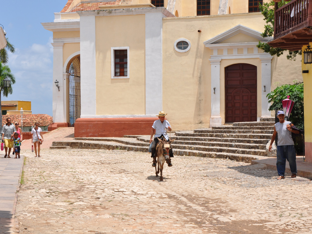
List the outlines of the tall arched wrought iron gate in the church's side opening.
{"type": "Polygon", "coordinates": [[[76,57],[69,67],[69,121],[71,127],[80,118],[80,56],[76,57]]]}

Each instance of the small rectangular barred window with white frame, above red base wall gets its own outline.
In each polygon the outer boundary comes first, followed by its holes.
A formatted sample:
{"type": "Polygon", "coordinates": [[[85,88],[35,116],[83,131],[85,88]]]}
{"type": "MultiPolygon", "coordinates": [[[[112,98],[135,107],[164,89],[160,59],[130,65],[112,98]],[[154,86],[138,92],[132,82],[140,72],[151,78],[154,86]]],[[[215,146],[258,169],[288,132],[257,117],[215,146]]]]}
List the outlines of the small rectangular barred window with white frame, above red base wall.
{"type": "Polygon", "coordinates": [[[129,78],[129,47],[111,47],[111,78],[129,78]]]}

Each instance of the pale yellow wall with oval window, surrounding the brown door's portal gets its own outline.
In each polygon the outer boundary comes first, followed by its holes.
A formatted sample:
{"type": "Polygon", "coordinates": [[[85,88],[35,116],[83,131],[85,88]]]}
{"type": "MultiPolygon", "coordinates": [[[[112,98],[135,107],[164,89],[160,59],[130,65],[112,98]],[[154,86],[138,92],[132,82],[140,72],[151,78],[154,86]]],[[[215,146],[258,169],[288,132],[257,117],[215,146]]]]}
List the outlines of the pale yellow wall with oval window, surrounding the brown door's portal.
{"type": "MultiPolygon", "coordinates": [[[[168,120],[174,124],[175,129],[194,129],[208,127],[211,115],[211,65],[209,62],[212,51],[206,48],[204,41],[238,25],[242,24],[256,31],[262,32],[265,22],[261,13],[236,14],[206,17],[163,18],[163,111],[169,113],[168,120]],[[198,33],[197,30],[202,32],[198,33]],[[186,38],[191,42],[191,49],[185,53],[177,52],[174,41],[186,38]],[[170,101],[166,101],[170,100],[170,101]]],[[[223,42],[257,42],[249,36],[238,34],[223,42]]],[[[248,52],[253,52],[248,50],[248,52]]],[[[228,51],[233,53],[232,50],[228,51]]],[[[238,52],[243,53],[243,49],[238,52]]],[[[259,50],[259,53],[262,51],[259,50]]],[[[223,54],[223,50],[218,51],[223,54]]],[[[236,63],[249,63],[257,66],[258,89],[257,115],[261,116],[261,60],[255,59],[226,59],[222,60],[220,67],[221,87],[221,117],[225,120],[224,103],[224,68],[236,63]]],[[[281,84],[300,80],[298,71],[300,61],[289,62],[285,56],[274,58],[271,63],[273,80],[281,84]],[[290,63],[292,66],[290,66],[290,63]],[[285,76],[285,74],[288,74],[285,76]]],[[[300,72],[299,72],[300,73],[300,72]]],[[[273,86],[273,82],[272,82],[273,86]]]]}

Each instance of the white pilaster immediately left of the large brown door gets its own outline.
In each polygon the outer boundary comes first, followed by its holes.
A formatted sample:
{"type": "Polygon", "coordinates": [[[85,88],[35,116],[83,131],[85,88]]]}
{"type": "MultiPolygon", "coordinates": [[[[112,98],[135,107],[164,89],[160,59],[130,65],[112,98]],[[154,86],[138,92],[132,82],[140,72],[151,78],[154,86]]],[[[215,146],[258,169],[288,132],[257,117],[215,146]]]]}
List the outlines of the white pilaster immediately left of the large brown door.
{"type": "Polygon", "coordinates": [[[210,127],[221,126],[220,116],[220,61],[221,59],[209,59],[211,64],[211,117],[210,127]]]}

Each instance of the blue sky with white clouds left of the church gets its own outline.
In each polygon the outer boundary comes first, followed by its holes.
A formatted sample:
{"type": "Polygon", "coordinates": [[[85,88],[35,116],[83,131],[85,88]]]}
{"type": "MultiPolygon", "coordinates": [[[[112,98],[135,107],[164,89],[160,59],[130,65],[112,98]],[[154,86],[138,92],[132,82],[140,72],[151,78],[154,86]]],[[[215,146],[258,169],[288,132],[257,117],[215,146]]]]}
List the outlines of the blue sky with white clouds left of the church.
{"type": "MultiPolygon", "coordinates": [[[[41,22],[53,22],[67,0],[1,1],[0,24],[7,32],[16,52],[9,55],[7,65],[15,75],[13,94],[2,100],[32,102],[33,114],[52,116],[53,47],[52,32],[41,22]]],[[[53,87],[54,86],[54,87],[53,87]]]]}

